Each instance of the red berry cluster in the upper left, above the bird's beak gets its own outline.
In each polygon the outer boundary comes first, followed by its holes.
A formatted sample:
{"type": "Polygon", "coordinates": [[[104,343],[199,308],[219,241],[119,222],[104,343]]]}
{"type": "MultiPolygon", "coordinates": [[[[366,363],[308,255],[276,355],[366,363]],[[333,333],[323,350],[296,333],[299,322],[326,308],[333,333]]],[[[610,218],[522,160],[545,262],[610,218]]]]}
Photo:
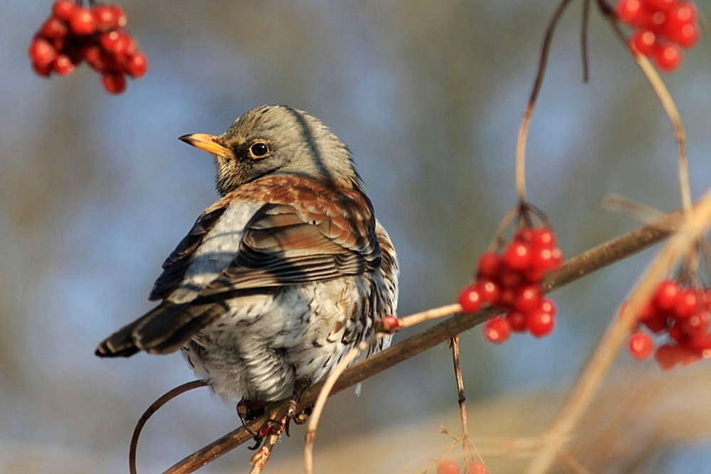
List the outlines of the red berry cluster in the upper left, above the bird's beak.
{"type": "Polygon", "coordinates": [[[68,75],[86,60],[102,75],[104,88],[112,94],[126,89],[126,75],[140,78],[148,60],[136,41],[122,27],[126,16],[117,5],[85,8],[73,0],[56,0],[52,14],[30,43],[28,54],[38,75],[68,75]]]}

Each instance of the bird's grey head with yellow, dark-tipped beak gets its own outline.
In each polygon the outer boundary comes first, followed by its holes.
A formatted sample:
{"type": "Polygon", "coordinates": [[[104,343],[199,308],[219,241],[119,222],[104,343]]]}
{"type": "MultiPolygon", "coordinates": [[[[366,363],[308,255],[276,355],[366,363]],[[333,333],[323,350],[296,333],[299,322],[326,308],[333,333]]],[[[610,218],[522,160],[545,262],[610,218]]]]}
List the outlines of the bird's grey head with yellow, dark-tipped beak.
{"type": "Polygon", "coordinates": [[[263,105],[239,117],[222,135],[180,139],[215,155],[223,196],[267,174],[299,174],[327,185],[360,188],[346,145],[312,115],[284,105],[263,105]]]}

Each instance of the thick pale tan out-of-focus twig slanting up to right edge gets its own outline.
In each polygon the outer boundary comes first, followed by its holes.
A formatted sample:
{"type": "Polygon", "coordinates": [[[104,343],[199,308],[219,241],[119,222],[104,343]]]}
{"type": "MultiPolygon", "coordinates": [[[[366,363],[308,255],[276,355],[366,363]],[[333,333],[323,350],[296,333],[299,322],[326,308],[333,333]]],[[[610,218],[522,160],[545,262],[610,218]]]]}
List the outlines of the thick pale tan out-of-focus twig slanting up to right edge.
{"type": "Polygon", "coordinates": [[[641,282],[633,290],[620,317],[614,317],[591,354],[576,384],[567,396],[554,421],[542,435],[544,446],[533,458],[528,473],[546,473],[574,432],[580,418],[599,389],[631,328],[650,299],[655,286],[668,275],[686,251],[693,248],[711,223],[711,191],[692,210],[690,219],[651,263],[641,282]]]}

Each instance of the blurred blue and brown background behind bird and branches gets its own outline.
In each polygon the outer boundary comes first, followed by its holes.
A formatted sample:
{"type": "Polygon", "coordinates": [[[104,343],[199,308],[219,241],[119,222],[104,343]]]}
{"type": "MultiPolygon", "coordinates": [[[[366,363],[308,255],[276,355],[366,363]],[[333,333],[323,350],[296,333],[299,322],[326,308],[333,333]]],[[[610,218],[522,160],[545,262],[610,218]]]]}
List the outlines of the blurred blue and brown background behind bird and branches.
{"type": "MultiPolygon", "coordinates": [[[[3,1],[0,471],[127,472],[142,411],[194,379],[177,354],[102,360],[93,351],[152,307],[160,264],[216,199],[213,162],[177,137],[219,134],[256,105],[307,110],[349,144],[399,252],[401,315],[453,301],[515,204],[517,127],[556,3],[125,0],[127,29],[150,68],[110,96],[86,66],[66,78],[34,75],[26,51],[51,1],[3,1]]],[[[581,82],[581,5],[573,2],[555,35],[528,145],[530,200],[568,256],[636,227],[601,208],[606,193],[679,206],[668,120],[596,11],[590,81],[581,82]]],[[[706,2],[699,7],[711,15],[706,2]]],[[[707,36],[665,78],[685,120],[695,197],[711,182],[707,36]]],[[[554,394],[574,381],[651,256],[554,293],[550,337],[494,347],[478,329],[463,335],[474,436],[544,426],[554,394]]],[[[678,372],[621,357],[585,431],[607,444],[576,451],[591,472],[711,473],[711,372],[678,372]],[[621,409],[619,394],[636,390],[637,410],[621,409]],[[611,443],[621,433],[628,443],[611,443]]],[[[421,473],[449,446],[439,426],[459,433],[456,410],[441,344],[370,379],[362,395],[330,401],[317,471],[421,473]]],[[[181,396],[147,424],[139,472],[168,468],[236,423],[233,404],[206,389],[181,396]]],[[[300,472],[302,436],[294,428],[266,472],[300,472]]],[[[251,454],[238,448],[200,472],[246,473],[251,454]]]]}

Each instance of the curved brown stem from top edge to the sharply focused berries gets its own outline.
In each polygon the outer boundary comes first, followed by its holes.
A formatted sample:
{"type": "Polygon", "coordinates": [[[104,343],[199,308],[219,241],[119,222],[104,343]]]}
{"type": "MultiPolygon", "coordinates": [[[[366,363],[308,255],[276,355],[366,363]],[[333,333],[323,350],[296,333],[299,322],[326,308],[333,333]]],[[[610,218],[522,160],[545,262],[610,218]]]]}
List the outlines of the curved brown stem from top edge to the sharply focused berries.
{"type": "Polygon", "coordinates": [[[516,139],[516,191],[520,201],[526,200],[526,137],[528,136],[528,129],[531,123],[531,115],[533,115],[533,107],[536,105],[536,100],[538,99],[538,94],[543,84],[543,76],[546,72],[548,55],[553,41],[553,32],[556,26],[558,26],[558,21],[563,11],[565,11],[565,7],[568,6],[570,2],[571,0],[562,0],[554,12],[553,18],[548,23],[546,35],[543,38],[538,70],[536,71],[536,80],[533,83],[533,89],[531,90],[526,108],[523,111],[523,118],[518,129],[518,137],[516,139]]]}

